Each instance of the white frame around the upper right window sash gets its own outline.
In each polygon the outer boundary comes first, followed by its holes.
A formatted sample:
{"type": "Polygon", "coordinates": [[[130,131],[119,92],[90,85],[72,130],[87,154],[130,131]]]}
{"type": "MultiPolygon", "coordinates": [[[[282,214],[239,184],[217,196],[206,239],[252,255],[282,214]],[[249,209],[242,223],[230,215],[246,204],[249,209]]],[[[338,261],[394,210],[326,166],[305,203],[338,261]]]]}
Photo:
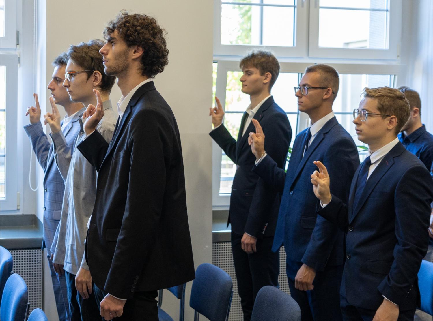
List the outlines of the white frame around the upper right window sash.
{"type": "MultiPolygon", "coordinates": [[[[310,58],[346,58],[397,60],[400,58],[401,18],[403,4],[401,0],[389,1],[389,21],[387,27],[388,49],[364,48],[326,48],[319,47],[319,9],[320,1],[311,0],[308,56],[310,58]]],[[[336,8],[338,9],[338,8],[336,8]]]]}

